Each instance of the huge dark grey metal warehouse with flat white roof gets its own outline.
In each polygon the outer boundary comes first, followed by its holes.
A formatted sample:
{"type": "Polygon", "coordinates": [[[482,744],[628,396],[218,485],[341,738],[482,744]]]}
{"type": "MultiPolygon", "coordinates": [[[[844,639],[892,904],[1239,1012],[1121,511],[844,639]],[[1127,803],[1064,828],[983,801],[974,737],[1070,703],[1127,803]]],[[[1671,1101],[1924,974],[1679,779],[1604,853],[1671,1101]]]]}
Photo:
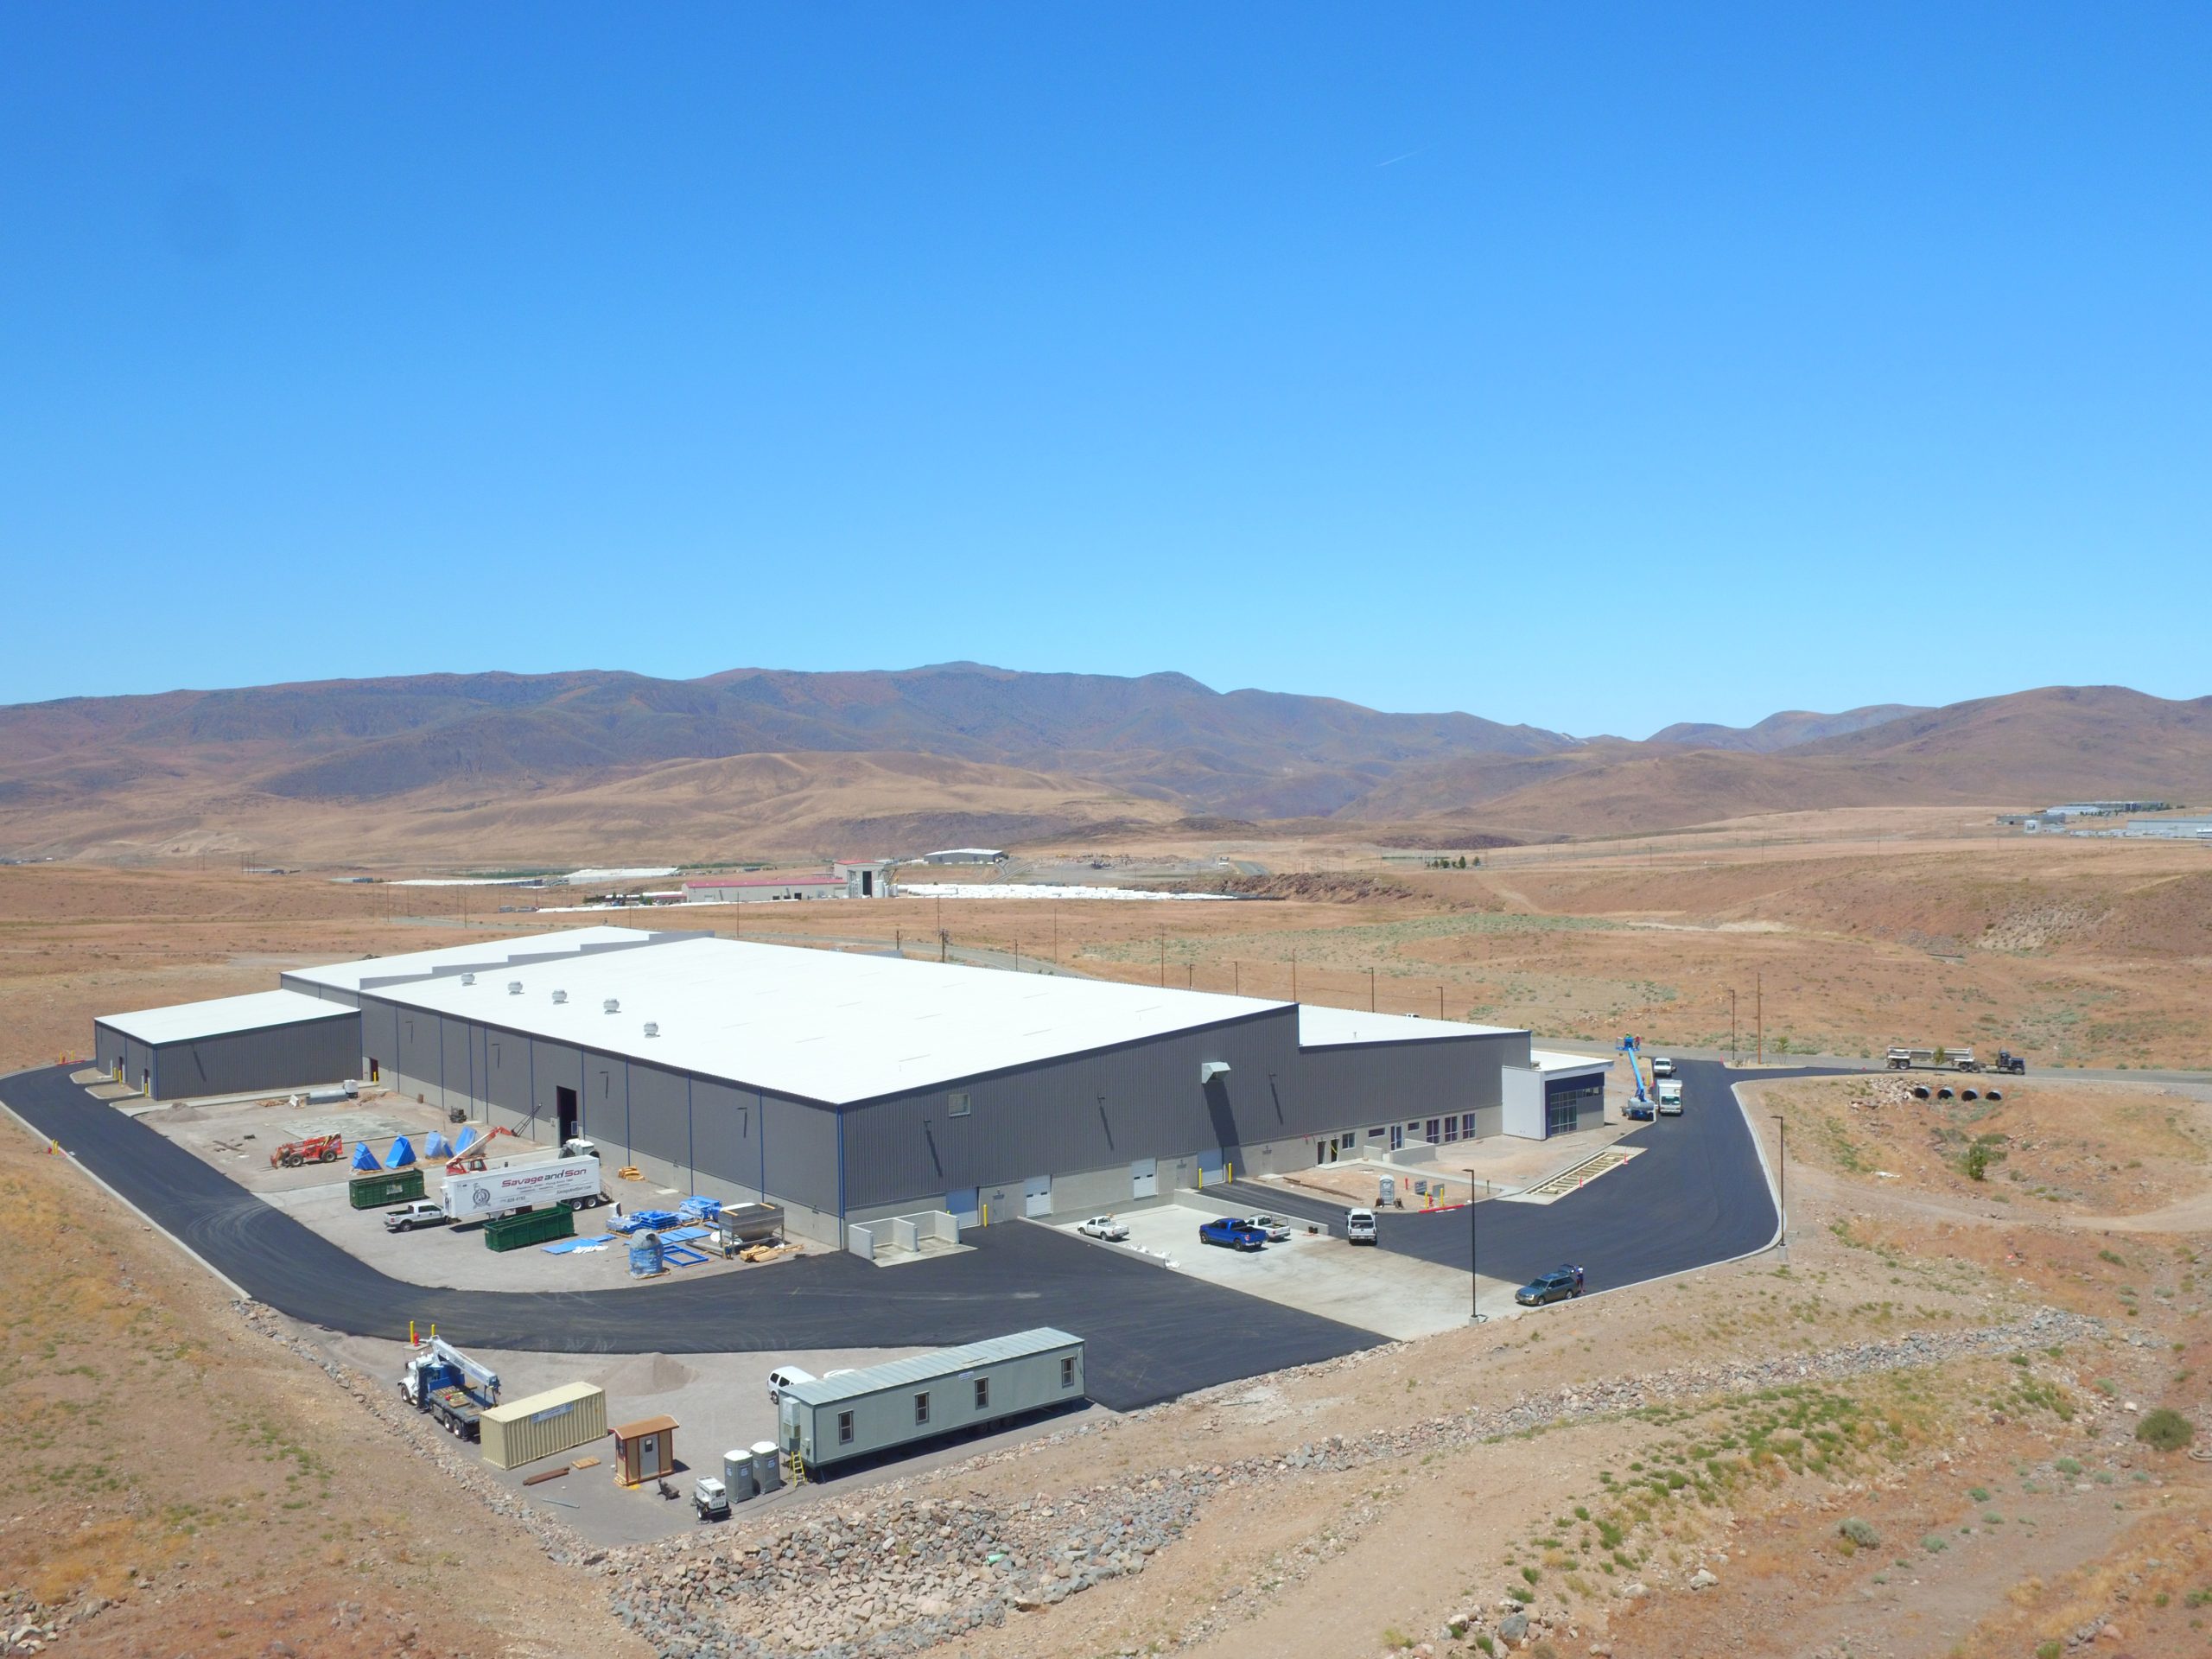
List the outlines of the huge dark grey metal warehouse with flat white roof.
{"type": "MultiPolygon", "coordinates": [[[[586,1135],[608,1166],[781,1203],[821,1241],[1498,1135],[1509,1088],[1537,1091],[1522,1133],[1604,1113],[1606,1062],[1537,1055],[1526,1031],[699,933],[593,927],[296,969],[272,995],[338,1009],[347,1075],[542,1144],[586,1135]]],[[[270,1064],[290,1062],[272,1046],[270,1064]]]]}

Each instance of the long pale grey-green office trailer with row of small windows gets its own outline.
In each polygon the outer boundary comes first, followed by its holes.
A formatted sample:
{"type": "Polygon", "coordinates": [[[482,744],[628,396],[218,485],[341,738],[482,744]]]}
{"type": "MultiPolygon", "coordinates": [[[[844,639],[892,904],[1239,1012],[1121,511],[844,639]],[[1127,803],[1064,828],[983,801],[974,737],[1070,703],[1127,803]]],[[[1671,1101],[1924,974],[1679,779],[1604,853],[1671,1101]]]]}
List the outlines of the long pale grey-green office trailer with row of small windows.
{"type": "Polygon", "coordinates": [[[865,1371],[785,1383],[783,1453],[805,1469],[1077,1405],[1084,1338],[1042,1325],[865,1371]]]}

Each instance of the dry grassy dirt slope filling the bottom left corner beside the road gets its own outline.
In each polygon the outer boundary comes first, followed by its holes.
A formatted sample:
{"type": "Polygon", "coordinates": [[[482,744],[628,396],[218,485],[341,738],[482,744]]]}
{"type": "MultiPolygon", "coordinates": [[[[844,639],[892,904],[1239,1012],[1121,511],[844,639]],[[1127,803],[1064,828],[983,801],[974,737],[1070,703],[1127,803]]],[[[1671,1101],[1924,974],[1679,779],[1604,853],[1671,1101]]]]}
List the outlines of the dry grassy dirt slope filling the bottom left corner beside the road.
{"type": "Polygon", "coordinates": [[[0,1248],[9,1630],[201,1659],[648,1652],[591,1579],[396,1447],[13,1121],[0,1248]]]}

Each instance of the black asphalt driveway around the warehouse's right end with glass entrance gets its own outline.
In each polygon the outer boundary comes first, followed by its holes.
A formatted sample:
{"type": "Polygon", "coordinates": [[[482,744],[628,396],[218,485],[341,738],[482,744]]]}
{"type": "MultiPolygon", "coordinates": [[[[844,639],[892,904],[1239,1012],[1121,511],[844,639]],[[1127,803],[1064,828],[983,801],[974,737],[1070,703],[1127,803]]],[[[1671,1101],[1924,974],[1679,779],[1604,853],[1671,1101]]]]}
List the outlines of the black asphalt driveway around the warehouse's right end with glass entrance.
{"type": "MultiPolygon", "coordinates": [[[[1380,1245],[1460,1270],[1469,1252],[1480,1250],[1482,1276],[1515,1285],[1571,1261],[1586,1270],[1590,1290],[1617,1290],[1761,1250],[1774,1239],[1774,1194],[1730,1084],[1825,1073],[1741,1073],[1710,1060],[1677,1060],[1674,1068],[1681,1117],[1661,1117],[1621,1137],[1621,1146],[1648,1148],[1641,1157],[1555,1203],[1478,1203],[1473,1239],[1464,1208],[1383,1210],[1380,1245]]],[[[1451,1148],[1438,1152],[1438,1168],[1451,1168],[1451,1148]]],[[[1416,1166],[1402,1175],[1420,1172],[1416,1166]]],[[[1343,1232],[1345,1206],[1321,1194],[1259,1181],[1230,1181],[1217,1192],[1223,1214],[1279,1210],[1343,1232]]]]}

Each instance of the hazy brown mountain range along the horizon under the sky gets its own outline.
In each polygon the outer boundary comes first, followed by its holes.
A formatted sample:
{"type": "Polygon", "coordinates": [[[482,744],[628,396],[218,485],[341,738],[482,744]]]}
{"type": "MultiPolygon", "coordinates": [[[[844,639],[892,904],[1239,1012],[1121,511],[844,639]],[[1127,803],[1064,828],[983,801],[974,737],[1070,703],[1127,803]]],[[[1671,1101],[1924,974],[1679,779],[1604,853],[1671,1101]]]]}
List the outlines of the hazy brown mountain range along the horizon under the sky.
{"type": "Polygon", "coordinates": [[[1190,816],[1573,836],[2081,794],[2212,794],[2212,699],[2046,688],[1644,743],[978,664],[420,675],[0,708],[13,856],[695,860],[1190,816]]]}

